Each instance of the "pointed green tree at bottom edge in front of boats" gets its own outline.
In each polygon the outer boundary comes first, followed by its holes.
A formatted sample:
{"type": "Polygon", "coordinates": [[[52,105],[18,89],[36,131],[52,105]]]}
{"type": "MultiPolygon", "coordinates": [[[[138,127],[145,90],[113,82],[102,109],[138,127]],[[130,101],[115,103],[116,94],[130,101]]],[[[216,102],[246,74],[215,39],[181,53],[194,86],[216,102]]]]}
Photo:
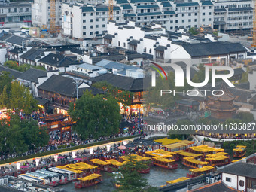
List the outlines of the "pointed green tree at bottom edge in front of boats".
{"type": "Polygon", "coordinates": [[[149,163],[150,162],[147,161],[138,161],[134,156],[128,156],[128,160],[126,160],[126,163],[123,166],[121,166],[120,169],[118,169],[122,175],[122,177],[118,179],[118,184],[120,184],[118,191],[148,191],[145,190],[145,187],[148,186],[148,182],[145,178],[142,178],[142,175],[139,173],[139,170],[148,169],[149,163]]]}

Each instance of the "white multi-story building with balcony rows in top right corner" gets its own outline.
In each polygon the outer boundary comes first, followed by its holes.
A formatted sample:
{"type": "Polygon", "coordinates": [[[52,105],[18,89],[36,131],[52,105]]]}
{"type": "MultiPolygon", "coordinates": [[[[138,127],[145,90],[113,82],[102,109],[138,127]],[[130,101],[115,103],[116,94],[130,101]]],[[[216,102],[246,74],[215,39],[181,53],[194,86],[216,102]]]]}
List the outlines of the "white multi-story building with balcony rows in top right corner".
{"type": "Polygon", "coordinates": [[[250,32],[253,22],[251,0],[215,2],[214,28],[221,32],[250,32]]]}

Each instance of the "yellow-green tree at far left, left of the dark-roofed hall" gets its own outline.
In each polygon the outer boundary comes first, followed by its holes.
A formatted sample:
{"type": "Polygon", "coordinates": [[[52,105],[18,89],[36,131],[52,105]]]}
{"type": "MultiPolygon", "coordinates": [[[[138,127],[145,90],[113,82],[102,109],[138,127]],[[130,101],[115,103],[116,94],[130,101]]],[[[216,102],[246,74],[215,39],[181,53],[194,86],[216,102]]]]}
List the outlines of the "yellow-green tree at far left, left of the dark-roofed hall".
{"type": "Polygon", "coordinates": [[[27,87],[17,81],[11,84],[9,108],[16,108],[18,111],[23,110],[25,114],[31,114],[36,109],[36,104],[36,100],[27,87]]]}

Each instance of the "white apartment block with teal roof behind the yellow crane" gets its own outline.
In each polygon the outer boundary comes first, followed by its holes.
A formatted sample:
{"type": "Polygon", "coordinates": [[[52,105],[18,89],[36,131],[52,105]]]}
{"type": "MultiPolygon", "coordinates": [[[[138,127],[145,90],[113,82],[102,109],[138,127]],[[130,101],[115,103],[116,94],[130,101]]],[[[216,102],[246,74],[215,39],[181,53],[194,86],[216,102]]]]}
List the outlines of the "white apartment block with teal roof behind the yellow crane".
{"type": "MultiPolygon", "coordinates": [[[[121,21],[121,9],[114,6],[114,20],[121,21]]],[[[73,38],[94,38],[107,29],[107,5],[62,5],[62,27],[65,35],[73,38]]]]}

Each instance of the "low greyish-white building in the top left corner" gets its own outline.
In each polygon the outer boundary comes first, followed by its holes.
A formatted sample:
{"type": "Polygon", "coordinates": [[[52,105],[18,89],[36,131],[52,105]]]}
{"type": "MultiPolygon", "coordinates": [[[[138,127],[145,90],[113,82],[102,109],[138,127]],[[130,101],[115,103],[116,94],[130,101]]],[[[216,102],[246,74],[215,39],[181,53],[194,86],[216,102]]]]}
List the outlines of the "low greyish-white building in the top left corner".
{"type": "Polygon", "coordinates": [[[0,1],[0,23],[22,23],[31,21],[29,2],[0,1]]]}

